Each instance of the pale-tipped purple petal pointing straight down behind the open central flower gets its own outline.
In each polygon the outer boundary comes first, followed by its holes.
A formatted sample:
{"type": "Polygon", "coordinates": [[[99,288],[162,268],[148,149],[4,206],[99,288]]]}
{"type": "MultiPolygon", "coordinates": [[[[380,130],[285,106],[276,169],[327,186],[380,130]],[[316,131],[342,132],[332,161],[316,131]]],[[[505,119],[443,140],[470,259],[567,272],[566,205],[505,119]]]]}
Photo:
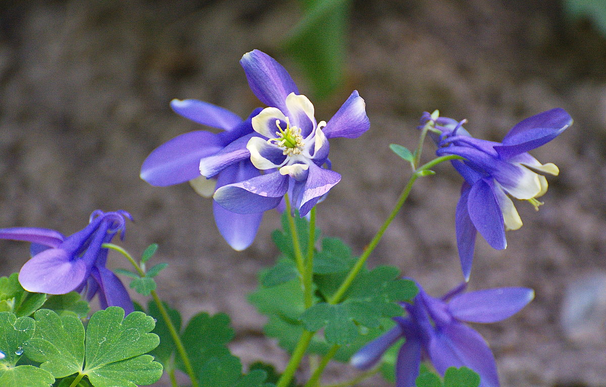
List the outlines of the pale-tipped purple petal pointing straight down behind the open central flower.
{"type": "MultiPolygon", "coordinates": [[[[241,161],[237,165],[231,165],[219,173],[217,187],[227,184],[241,182],[259,176],[259,170],[248,161],[241,161]]],[[[219,233],[227,243],[236,251],[242,251],[255,240],[263,213],[236,214],[225,210],[219,203],[213,200],[213,213],[219,233]]]]}

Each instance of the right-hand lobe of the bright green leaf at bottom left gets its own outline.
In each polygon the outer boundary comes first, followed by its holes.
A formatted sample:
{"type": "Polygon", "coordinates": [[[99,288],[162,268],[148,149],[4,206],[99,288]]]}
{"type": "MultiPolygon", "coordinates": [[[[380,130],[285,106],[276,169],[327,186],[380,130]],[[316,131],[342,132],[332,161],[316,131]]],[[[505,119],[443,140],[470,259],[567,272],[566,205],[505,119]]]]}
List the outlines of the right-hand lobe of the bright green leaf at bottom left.
{"type": "Polygon", "coordinates": [[[144,355],[158,346],[158,336],[149,333],[154,325],[153,317],[141,312],[124,318],[118,306],[96,312],[87,326],[82,373],[95,387],[155,383],[162,376],[162,365],[144,355]]]}

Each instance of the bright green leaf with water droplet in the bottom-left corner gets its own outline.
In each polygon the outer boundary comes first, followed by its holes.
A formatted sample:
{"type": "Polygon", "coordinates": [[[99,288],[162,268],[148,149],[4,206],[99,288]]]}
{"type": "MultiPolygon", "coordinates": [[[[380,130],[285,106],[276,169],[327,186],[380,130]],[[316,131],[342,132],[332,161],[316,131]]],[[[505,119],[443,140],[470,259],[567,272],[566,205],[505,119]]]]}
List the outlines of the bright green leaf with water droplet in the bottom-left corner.
{"type": "Polygon", "coordinates": [[[35,322],[30,317],[15,316],[11,312],[0,312],[0,386],[2,387],[48,387],[55,382],[52,374],[32,365],[18,365],[25,342],[35,332],[35,322]]]}

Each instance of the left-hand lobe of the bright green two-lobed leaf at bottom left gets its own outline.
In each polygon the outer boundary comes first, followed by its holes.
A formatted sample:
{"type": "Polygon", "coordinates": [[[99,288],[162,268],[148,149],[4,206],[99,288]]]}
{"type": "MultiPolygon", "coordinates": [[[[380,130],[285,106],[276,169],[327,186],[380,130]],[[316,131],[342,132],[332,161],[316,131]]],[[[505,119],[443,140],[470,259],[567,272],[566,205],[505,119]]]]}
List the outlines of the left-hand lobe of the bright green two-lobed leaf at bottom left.
{"type": "Polygon", "coordinates": [[[36,332],[25,343],[25,355],[40,368],[56,378],[66,377],[82,370],[84,365],[84,326],[78,317],[63,316],[50,309],[34,314],[36,332]]]}

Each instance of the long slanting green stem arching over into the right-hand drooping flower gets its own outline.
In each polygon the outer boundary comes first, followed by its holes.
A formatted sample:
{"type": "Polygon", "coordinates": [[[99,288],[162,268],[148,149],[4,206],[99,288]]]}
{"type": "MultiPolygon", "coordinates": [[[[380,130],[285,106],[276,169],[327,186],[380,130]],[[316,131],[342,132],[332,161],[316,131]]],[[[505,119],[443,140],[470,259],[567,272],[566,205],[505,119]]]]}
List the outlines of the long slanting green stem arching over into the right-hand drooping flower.
{"type": "Polygon", "coordinates": [[[336,304],[341,301],[341,298],[343,297],[349,286],[351,286],[353,280],[355,280],[356,276],[358,276],[359,271],[362,270],[362,268],[364,267],[364,263],[366,262],[368,256],[370,256],[373,250],[375,250],[383,234],[385,233],[385,230],[387,230],[387,227],[390,225],[391,221],[396,217],[396,215],[400,211],[400,208],[402,208],[402,205],[404,205],[404,202],[410,194],[410,190],[413,188],[413,184],[415,184],[416,179],[421,176],[420,173],[422,171],[428,170],[431,167],[434,167],[435,165],[441,162],[454,159],[462,159],[462,157],[456,156],[454,154],[449,154],[448,156],[441,156],[436,159],[433,159],[427,164],[424,164],[421,167],[417,168],[417,170],[410,176],[410,179],[408,179],[408,183],[406,184],[406,187],[404,187],[404,191],[402,191],[400,197],[398,198],[398,203],[396,203],[396,207],[393,208],[387,219],[385,219],[385,222],[383,223],[381,228],[379,228],[379,231],[377,231],[375,237],[373,237],[370,243],[368,243],[368,247],[366,248],[366,250],[364,250],[364,253],[362,253],[362,255],[358,258],[358,262],[356,262],[353,268],[351,268],[347,278],[344,280],[343,283],[341,283],[341,286],[339,287],[335,295],[328,301],[328,303],[336,304]]]}

